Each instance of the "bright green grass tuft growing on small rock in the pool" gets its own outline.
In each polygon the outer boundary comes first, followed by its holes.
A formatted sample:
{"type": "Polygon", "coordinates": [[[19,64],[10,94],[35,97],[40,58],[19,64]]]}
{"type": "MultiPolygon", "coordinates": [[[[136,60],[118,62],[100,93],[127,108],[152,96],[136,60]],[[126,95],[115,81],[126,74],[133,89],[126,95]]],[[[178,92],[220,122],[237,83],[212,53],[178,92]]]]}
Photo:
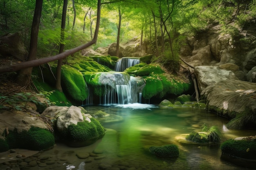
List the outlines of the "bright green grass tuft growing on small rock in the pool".
{"type": "Polygon", "coordinates": [[[209,141],[214,143],[220,142],[222,137],[222,131],[220,130],[219,127],[217,126],[207,127],[206,124],[203,124],[202,131],[207,133],[209,137],[209,141]]]}

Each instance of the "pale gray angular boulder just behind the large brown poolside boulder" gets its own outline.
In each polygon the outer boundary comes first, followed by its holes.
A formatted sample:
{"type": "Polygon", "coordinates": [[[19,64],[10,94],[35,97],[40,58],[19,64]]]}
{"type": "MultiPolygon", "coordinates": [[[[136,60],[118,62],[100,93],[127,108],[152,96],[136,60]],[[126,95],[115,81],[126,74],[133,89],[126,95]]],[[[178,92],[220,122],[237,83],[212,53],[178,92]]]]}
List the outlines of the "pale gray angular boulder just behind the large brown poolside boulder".
{"type": "Polygon", "coordinates": [[[215,85],[220,81],[227,79],[238,79],[232,71],[222,69],[219,66],[196,66],[195,76],[198,80],[198,88],[200,93],[207,86],[215,85]]]}

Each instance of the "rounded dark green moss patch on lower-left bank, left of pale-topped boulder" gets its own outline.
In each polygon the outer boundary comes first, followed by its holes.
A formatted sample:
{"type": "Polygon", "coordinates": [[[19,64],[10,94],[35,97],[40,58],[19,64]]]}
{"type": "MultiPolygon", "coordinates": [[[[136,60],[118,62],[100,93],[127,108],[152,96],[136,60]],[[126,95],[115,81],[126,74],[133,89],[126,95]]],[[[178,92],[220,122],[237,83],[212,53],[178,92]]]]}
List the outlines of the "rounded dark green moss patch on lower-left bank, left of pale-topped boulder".
{"type": "Polygon", "coordinates": [[[31,127],[29,131],[22,131],[19,135],[20,148],[29,150],[45,150],[55,144],[54,135],[49,130],[31,127]]]}

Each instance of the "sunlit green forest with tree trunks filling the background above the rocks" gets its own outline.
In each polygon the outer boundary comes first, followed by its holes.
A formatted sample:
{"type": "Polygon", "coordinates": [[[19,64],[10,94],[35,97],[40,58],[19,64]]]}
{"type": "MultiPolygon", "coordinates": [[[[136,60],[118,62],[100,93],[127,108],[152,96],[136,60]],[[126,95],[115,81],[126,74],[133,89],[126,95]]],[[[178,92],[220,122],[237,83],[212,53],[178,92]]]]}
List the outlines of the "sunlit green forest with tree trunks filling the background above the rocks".
{"type": "MultiPolygon", "coordinates": [[[[119,44],[132,38],[150,44],[155,61],[177,71],[186,38],[200,36],[218,24],[220,33],[248,41],[250,35],[245,36],[243,28],[256,18],[255,0],[0,0],[0,4],[0,35],[19,32],[29,51],[27,60],[39,59],[11,68],[1,66],[0,72],[54,60],[61,66],[68,55],[112,42],[117,42],[118,57],[119,44]]],[[[27,84],[24,77],[29,79],[26,74],[31,71],[19,74],[23,74],[19,82],[27,84]]]]}

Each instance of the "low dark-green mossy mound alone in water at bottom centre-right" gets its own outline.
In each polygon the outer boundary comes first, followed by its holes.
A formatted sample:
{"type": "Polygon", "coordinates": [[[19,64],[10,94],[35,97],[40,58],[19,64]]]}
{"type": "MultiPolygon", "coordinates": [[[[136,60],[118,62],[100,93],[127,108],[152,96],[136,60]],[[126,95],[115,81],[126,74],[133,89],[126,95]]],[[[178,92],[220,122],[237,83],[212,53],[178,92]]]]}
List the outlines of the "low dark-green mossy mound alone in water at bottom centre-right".
{"type": "Polygon", "coordinates": [[[178,157],[180,155],[179,149],[174,144],[164,146],[151,146],[149,151],[159,157],[178,157]]]}

